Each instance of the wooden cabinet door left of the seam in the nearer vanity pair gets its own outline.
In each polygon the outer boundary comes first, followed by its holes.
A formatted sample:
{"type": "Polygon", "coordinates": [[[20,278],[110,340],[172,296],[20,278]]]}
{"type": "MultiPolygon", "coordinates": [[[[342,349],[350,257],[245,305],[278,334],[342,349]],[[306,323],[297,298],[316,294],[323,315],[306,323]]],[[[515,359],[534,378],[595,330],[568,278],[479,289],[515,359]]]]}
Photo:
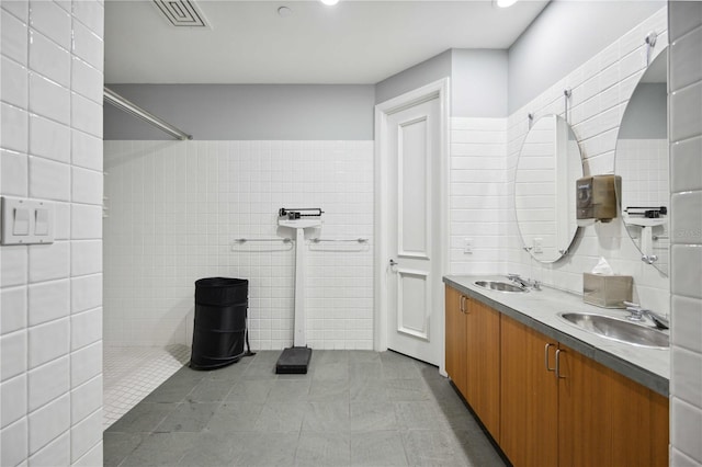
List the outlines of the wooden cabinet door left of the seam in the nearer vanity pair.
{"type": "Polygon", "coordinates": [[[502,316],[499,444],[514,467],[558,463],[558,381],[556,342],[502,316]],[[551,344],[546,348],[546,344],[551,344]]]}

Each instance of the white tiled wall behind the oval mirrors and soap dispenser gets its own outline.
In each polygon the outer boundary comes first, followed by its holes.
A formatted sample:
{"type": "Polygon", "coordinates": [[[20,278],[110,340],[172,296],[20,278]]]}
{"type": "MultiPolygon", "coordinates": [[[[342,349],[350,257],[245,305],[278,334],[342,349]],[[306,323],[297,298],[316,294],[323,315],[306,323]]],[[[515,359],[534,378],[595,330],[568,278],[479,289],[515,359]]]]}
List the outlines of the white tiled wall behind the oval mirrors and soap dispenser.
{"type": "MultiPolygon", "coordinates": [[[[580,143],[586,174],[613,173],[614,149],[621,118],[638,79],[646,68],[644,37],[658,33],[653,57],[668,44],[667,10],[661,9],[639,26],[602,50],[574,72],[544,91],[529,104],[509,116],[507,143],[507,195],[513,206],[514,170],[521,145],[529,128],[529,113],[539,118],[555,113],[564,115],[564,89],[571,89],[567,119],[580,143]]],[[[652,57],[652,58],[653,58],[652,57]]],[[[546,284],[580,293],[582,272],[590,271],[603,257],[619,274],[634,276],[634,299],[668,312],[668,277],[641,261],[641,253],[626,234],[621,219],[598,223],[581,229],[570,253],[553,264],[541,264],[522,250],[513,210],[508,210],[510,272],[520,272],[546,284]]]]}

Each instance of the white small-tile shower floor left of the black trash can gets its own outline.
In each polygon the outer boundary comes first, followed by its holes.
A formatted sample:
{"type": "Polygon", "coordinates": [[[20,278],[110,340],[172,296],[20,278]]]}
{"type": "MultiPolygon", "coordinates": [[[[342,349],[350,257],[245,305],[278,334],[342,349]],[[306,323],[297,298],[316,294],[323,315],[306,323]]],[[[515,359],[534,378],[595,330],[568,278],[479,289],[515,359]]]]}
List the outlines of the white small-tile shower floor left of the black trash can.
{"type": "Polygon", "coordinates": [[[190,361],[188,345],[106,346],[103,351],[103,430],[190,361]]]}

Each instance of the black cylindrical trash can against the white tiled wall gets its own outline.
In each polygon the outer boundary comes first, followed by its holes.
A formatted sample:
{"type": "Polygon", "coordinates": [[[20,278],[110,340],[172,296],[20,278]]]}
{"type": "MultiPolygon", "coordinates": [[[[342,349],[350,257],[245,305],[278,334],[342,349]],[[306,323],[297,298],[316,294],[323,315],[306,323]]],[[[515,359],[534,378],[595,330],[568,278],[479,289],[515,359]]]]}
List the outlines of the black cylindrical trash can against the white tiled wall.
{"type": "Polygon", "coordinates": [[[244,351],[249,281],[208,277],[195,281],[195,324],[190,367],[213,369],[238,362],[244,351]]]}

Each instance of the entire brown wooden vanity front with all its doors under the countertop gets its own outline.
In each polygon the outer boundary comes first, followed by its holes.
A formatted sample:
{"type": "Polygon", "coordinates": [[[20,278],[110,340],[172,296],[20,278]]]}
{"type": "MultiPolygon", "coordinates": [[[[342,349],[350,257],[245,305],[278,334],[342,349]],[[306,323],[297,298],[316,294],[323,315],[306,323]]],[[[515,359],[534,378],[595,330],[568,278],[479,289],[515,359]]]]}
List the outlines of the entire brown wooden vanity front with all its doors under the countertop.
{"type": "Polygon", "coordinates": [[[446,372],[514,467],[668,465],[668,398],[452,287],[446,372]]]}

